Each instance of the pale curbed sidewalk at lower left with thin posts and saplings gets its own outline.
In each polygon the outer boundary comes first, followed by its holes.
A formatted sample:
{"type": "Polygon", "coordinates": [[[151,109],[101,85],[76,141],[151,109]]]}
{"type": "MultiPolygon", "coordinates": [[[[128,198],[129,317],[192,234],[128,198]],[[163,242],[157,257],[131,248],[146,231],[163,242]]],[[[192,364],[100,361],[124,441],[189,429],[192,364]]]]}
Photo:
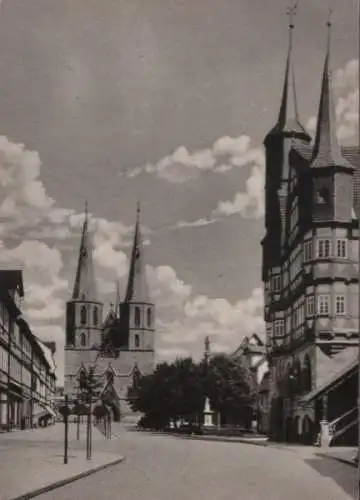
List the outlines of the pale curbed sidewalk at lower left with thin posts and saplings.
{"type": "Polygon", "coordinates": [[[64,464],[64,424],[0,435],[0,500],[33,498],[123,460],[116,436],[92,427],[92,459],[86,460],[86,425],[69,424],[68,463],[64,464]],[[36,494],[35,494],[36,493],[36,494]]]}

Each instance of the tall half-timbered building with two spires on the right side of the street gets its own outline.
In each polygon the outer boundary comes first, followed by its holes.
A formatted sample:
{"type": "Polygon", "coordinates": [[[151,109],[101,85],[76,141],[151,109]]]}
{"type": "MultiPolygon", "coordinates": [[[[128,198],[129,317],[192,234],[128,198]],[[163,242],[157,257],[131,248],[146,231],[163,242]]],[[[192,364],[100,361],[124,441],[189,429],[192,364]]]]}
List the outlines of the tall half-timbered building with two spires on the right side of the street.
{"type": "Polygon", "coordinates": [[[279,116],[264,140],[266,418],[274,439],[307,443],[356,407],[341,391],[331,405],[319,392],[345,382],[359,341],[360,151],[337,140],[330,29],[315,137],[299,119],[291,25],[279,116]]]}

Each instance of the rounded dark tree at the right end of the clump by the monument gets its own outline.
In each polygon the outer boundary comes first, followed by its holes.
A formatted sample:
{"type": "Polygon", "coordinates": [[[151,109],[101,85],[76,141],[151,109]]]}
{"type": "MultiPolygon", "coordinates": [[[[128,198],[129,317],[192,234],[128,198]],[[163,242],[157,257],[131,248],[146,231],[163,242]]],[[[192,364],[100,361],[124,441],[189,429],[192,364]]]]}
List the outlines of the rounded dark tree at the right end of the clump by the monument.
{"type": "Polygon", "coordinates": [[[232,424],[251,425],[256,408],[256,387],[251,371],[238,359],[217,355],[205,372],[205,391],[212,409],[232,424]]]}

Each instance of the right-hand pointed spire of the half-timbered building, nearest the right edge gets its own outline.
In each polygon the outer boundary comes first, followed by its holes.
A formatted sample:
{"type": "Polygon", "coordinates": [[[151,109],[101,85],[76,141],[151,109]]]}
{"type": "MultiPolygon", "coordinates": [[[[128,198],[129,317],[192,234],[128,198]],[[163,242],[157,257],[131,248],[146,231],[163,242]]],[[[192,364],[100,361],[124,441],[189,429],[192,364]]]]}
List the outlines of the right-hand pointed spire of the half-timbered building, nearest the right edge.
{"type": "Polygon", "coordinates": [[[343,157],[336,135],[336,113],[330,69],[331,10],[326,25],[326,57],[311,164],[313,168],[338,166],[353,169],[352,165],[343,157]]]}

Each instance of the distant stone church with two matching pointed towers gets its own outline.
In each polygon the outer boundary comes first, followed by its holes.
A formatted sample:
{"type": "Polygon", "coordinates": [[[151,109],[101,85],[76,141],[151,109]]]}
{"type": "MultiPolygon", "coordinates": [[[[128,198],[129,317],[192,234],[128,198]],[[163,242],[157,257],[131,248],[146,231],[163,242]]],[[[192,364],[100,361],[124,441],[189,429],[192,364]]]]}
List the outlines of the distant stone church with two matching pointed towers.
{"type": "Polygon", "coordinates": [[[115,305],[103,316],[96,291],[88,215],[82,230],[78,267],[71,300],[66,305],[64,391],[76,397],[81,372],[94,367],[95,377],[118,401],[114,418],[129,411],[128,388],[139,374],[154,370],[155,306],[145,274],[140,209],[130,258],[124,300],[117,287],[115,305]]]}

